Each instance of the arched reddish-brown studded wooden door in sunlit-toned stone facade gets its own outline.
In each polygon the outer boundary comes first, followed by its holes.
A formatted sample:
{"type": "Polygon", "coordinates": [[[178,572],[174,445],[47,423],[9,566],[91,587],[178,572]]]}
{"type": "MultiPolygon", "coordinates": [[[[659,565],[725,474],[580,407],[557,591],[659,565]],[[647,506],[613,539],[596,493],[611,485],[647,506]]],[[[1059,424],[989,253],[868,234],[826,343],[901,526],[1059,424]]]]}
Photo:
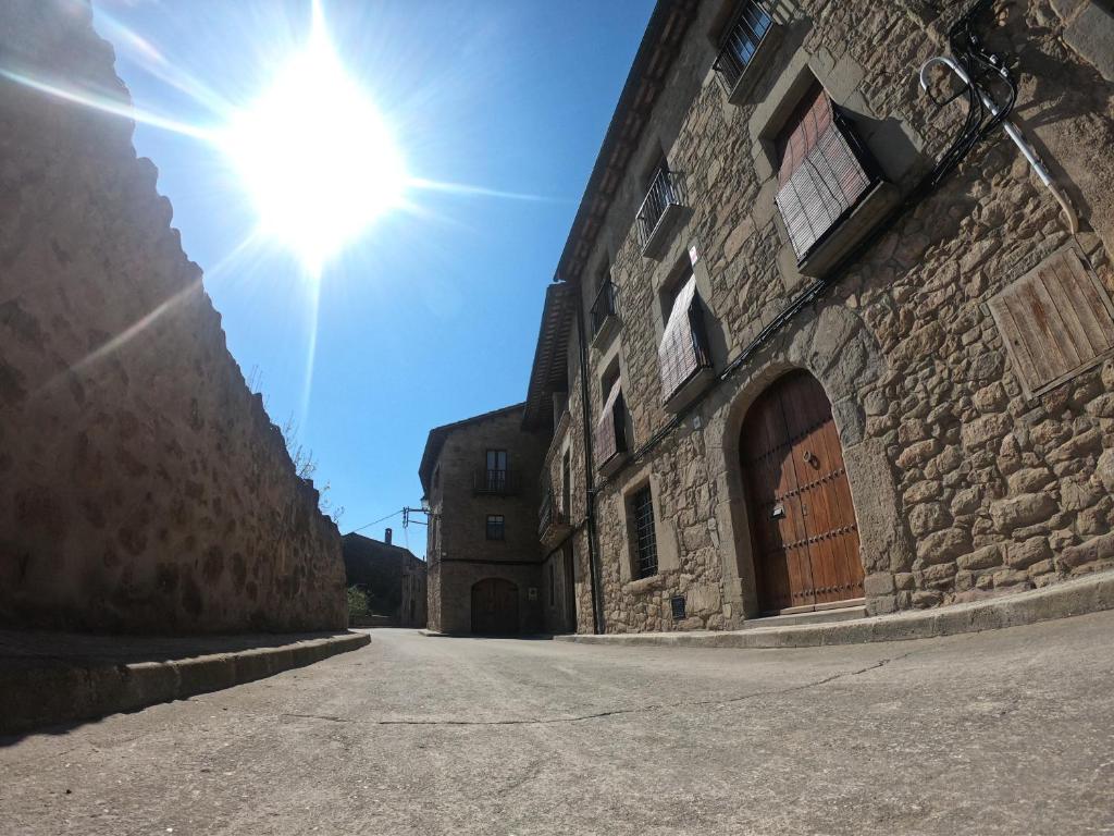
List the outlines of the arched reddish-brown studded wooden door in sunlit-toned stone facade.
{"type": "Polygon", "coordinates": [[[740,458],[763,612],[862,597],[859,531],[828,396],[786,375],[751,407],[740,458]]]}

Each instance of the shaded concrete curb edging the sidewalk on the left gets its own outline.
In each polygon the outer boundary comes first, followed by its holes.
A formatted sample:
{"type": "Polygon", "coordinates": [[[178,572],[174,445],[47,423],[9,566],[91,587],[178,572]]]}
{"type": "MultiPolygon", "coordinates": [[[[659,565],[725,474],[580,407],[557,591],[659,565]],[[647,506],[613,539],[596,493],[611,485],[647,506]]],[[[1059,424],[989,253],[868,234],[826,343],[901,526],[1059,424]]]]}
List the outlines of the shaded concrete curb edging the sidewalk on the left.
{"type": "Polygon", "coordinates": [[[165,661],[4,660],[0,667],[0,735],[184,700],[302,668],[370,642],[367,633],[346,633],[165,661]]]}

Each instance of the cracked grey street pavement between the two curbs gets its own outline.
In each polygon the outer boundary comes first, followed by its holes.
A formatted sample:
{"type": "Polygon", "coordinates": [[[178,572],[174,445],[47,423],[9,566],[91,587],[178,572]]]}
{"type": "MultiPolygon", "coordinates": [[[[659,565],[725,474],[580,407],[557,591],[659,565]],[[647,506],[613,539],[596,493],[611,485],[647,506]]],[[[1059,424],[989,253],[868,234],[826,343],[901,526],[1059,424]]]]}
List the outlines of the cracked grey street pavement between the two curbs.
{"type": "Polygon", "coordinates": [[[0,739],[3,834],[1114,834],[1114,612],[799,650],[375,630],[0,739]]]}

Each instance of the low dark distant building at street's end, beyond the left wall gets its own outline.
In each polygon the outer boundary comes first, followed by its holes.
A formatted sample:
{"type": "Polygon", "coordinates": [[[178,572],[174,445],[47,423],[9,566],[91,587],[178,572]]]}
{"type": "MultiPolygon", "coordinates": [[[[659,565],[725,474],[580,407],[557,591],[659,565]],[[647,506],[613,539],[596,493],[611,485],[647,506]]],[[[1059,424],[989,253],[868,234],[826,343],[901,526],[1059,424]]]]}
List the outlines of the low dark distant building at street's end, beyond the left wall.
{"type": "Polygon", "coordinates": [[[423,628],[426,561],[391,541],[390,528],[382,541],[355,533],[341,537],[345,583],[367,594],[371,612],[384,624],[423,628]]]}

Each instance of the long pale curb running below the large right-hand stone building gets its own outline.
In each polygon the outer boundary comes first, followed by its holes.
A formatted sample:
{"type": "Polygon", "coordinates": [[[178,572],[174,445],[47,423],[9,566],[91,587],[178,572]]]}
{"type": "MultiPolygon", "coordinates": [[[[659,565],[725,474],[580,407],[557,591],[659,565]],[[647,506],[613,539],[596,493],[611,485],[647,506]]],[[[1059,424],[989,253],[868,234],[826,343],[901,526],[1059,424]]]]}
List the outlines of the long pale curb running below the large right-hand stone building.
{"type": "Polygon", "coordinates": [[[852,621],[754,626],[734,631],[559,635],[556,641],[623,647],[814,648],[824,644],[934,639],[1035,624],[1102,610],[1114,610],[1114,572],[1096,573],[1040,590],[985,601],[852,621]]]}

